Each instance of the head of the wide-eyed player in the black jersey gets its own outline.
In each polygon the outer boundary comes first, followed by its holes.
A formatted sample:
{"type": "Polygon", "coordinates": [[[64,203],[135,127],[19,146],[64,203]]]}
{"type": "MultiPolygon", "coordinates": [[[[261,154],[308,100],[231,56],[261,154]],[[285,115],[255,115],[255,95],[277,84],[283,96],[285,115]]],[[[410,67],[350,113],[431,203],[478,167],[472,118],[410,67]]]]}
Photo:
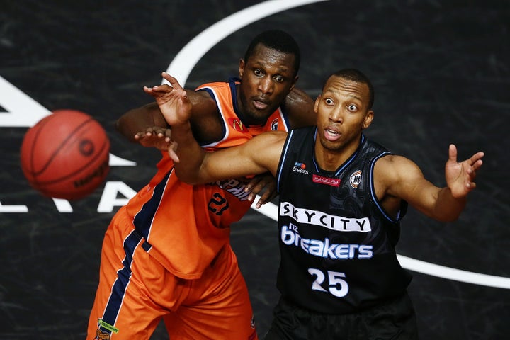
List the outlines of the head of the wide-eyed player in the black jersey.
{"type": "Polygon", "coordinates": [[[373,86],[357,69],[341,69],[331,74],[315,101],[317,136],[329,152],[346,148],[354,152],[362,130],[373,120],[373,86]]]}

